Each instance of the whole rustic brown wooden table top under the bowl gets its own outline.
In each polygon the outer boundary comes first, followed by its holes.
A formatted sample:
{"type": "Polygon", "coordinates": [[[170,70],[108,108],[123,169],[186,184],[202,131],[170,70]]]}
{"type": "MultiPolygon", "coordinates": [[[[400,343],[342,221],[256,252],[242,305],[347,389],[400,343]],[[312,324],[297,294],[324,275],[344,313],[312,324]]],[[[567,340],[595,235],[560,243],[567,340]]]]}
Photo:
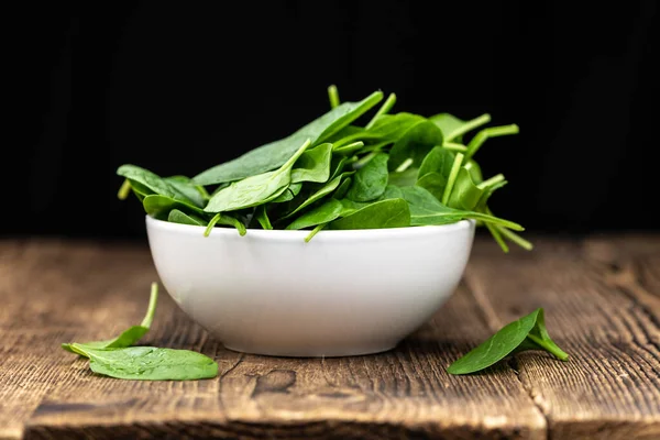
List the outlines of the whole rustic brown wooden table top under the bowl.
{"type": "Polygon", "coordinates": [[[451,300],[378,355],[231,352],[162,295],[144,342],[215,356],[198,382],[95,376],[59,349],[141,320],[146,245],[0,241],[0,438],[660,439],[660,235],[535,241],[504,255],[480,238],[451,300]],[[537,307],[570,362],[444,371],[537,307]]]}

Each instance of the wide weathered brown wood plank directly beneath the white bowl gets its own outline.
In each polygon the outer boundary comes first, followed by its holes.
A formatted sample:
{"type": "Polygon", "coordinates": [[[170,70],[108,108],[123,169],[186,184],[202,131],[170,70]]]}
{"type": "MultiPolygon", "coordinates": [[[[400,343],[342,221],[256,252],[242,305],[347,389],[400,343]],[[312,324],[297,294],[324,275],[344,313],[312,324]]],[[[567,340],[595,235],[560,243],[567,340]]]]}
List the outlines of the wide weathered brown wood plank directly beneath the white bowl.
{"type": "Polygon", "coordinates": [[[323,360],[228,351],[163,295],[144,343],[216,356],[220,377],[132,382],[92,375],[58,344],[141,319],[156,279],[144,248],[2,243],[0,255],[0,437],[546,438],[544,417],[506,365],[446,373],[492,330],[464,286],[396,350],[323,360]]]}

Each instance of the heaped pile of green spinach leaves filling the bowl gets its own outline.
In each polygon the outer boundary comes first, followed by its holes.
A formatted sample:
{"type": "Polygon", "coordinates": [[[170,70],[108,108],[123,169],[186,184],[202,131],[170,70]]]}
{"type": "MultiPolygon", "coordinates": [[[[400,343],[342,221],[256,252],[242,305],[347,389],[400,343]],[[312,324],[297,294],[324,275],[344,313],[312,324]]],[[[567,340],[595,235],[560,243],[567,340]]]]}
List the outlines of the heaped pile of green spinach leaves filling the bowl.
{"type": "Polygon", "coordinates": [[[518,133],[515,124],[485,125],[488,114],[461,120],[392,113],[392,94],[369,122],[358,120],[382,101],[376,91],[340,103],[328,89],[330,111],[287,138],[271,142],[197,176],[161,177],[122,165],[119,197],[132,191],[147,215],[176,223],[249,229],[380,229],[454,223],[473,219],[508,252],[507,241],[530,250],[488,206],[507,184],[484,178],[475,154],[491,138],[518,133]],[[481,129],[481,130],[480,130],[481,129]],[[479,131],[476,131],[479,130],[479,131]],[[476,131],[476,132],[475,132],[476,131]]]}

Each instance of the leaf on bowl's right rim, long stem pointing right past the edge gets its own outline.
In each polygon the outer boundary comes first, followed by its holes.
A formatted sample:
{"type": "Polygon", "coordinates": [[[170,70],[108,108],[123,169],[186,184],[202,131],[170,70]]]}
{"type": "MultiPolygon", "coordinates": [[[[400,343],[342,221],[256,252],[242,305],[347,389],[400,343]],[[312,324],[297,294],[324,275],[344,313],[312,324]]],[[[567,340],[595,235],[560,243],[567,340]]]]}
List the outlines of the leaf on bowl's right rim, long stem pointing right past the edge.
{"type": "Polygon", "coordinates": [[[454,223],[462,219],[482,220],[494,224],[501,224],[516,231],[524,228],[513,221],[488,216],[483,212],[452,209],[442,205],[432,194],[418,186],[402,188],[404,199],[410,207],[411,226],[432,226],[454,223]]]}

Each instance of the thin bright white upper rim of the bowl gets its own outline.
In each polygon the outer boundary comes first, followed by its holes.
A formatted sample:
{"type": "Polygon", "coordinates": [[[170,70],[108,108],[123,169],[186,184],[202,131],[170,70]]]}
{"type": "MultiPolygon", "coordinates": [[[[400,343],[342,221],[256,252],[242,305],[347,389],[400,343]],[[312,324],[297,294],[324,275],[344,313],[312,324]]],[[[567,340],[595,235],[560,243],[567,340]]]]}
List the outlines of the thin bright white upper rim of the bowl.
{"type": "MultiPolygon", "coordinates": [[[[208,237],[204,237],[202,232],[206,230],[204,226],[197,224],[183,224],[174,223],[166,220],[158,220],[150,215],[145,215],[146,227],[155,228],[161,231],[170,233],[177,233],[183,235],[197,235],[205,239],[222,238],[228,235],[240,237],[234,228],[213,228],[212,232],[208,237]]],[[[315,235],[315,240],[318,239],[345,239],[345,238],[406,238],[417,237],[425,234],[438,234],[438,233],[455,233],[473,228],[476,221],[473,219],[459,220],[454,223],[448,224],[432,224],[432,226],[418,226],[418,227],[405,227],[405,228],[381,228],[381,229],[344,229],[344,230],[321,230],[315,235]]],[[[253,237],[260,239],[278,239],[278,240],[299,240],[309,235],[310,230],[286,230],[286,229],[251,229],[248,228],[245,237],[253,237]]],[[[314,240],[312,240],[314,241],[314,240]]]]}

